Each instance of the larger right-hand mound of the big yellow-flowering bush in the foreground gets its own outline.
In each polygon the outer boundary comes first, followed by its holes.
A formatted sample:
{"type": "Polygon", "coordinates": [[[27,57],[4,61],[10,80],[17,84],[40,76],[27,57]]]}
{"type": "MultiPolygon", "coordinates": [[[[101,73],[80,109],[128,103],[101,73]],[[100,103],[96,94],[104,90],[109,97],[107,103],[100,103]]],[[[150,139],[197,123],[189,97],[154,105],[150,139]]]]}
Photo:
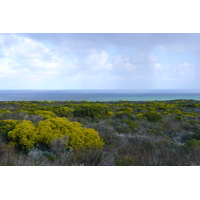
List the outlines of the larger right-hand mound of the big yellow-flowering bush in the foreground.
{"type": "MultiPolygon", "coordinates": [[[[74,149],[97,147],[102,148],[104,142],[94,129],[81,126],[78,122],[70,122],[67,118],[51,118],[40,121],[37,125],[38,141],[50,146],[53,139],[69,136],[69,143],[74,149]]],[[[68,146],[67,146],[68,145],[68,146]]]]}

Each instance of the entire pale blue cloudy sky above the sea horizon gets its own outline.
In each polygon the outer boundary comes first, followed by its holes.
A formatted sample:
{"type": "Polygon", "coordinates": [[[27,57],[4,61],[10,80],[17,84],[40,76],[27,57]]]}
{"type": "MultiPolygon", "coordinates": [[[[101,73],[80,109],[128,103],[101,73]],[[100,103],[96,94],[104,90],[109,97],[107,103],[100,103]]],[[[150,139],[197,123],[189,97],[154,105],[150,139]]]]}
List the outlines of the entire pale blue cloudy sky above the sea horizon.
{"type": "Polygon", "coordinates": [[[198,33],[1,33],[0,89],[200,89],[198,33]]]}

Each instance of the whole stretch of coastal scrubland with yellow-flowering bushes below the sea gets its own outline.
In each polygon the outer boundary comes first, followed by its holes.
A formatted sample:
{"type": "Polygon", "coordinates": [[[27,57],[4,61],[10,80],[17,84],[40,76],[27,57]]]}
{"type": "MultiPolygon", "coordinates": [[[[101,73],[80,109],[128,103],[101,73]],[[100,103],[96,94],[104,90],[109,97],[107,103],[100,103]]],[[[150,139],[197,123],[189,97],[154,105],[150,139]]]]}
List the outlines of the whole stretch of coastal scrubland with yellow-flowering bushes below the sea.
{"type": "Polygon", "coordinates": [[[200,165],[200,101],[1,101],[0,165],[200,165]]]}

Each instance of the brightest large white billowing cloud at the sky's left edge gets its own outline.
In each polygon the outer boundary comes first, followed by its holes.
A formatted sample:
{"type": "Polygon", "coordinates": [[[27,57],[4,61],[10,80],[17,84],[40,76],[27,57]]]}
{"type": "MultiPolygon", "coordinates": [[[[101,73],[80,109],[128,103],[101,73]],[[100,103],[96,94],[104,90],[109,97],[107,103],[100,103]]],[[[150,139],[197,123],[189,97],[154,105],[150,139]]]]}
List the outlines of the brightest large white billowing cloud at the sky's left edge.
{"type": "Polygon", "coordinates": [[[62,59],[53,56],[41,42],[16,34],[1,35],[3,58],[0,59],[0,76],[24,81],[52,78],[64,68],[62,59]],[[29,80],[27,80],[27,78],[29,80]]]}

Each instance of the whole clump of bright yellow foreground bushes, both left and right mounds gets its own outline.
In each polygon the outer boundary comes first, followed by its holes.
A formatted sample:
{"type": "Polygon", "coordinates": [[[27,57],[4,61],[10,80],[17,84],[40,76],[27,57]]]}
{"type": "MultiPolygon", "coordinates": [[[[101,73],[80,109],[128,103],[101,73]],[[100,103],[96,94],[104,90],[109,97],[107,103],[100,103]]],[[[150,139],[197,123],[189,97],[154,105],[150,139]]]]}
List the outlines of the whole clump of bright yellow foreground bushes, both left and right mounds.
{"type": "Polygon", "coordinates": [[[104,142],[94,129],[70,122],[66,118],[49,118],[35,126],[31,121],[23,120],[8,132],[9,146],[17,149],[31,149],[36,144],[50,146],[54,139],[69,137],[65,147],[74,149],[99,148],[104,142]]]}

